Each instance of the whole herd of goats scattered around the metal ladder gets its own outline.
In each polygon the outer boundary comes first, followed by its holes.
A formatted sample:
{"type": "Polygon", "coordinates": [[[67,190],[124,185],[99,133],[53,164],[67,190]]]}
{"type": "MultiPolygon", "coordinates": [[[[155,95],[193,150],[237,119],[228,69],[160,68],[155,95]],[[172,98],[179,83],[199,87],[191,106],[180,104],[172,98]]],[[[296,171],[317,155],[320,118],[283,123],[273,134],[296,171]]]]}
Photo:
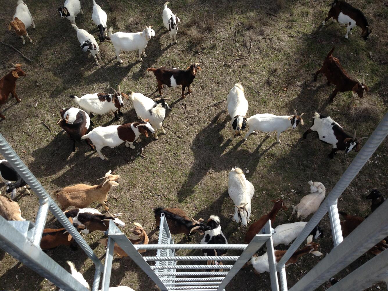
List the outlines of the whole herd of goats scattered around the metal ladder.
{"type": "MultiPolygon", "coordinates": [[[[163,9],[163,24],[168,29],[170,34],[171,45],[177,43],[177,31],[180,19],[173,14],[173,12],[167,7],[166,2],[163,9]]],[[[83,11],[79,0],[66,0],[64,5],[59,7],[59,13],[62,18],[67,18],[73,28],[76,30],[77,38],[80,42],[80,47],[83,52],[87,50],[93,55],[95,64],[98,65],[99,45],[95,40],[95,37],[85,31],[79,29],[75,23],[75,17],[83,11]]],[[[329,15],[323,21],[322,25],[326,23],[330,18],[337,20],[339,23],[347,24],[347,32],[345,38],[348,38],[348,34],[352,34],[353,27],[360,26],[362,28],[362,38],[367,40],[372,32],[367,19],[358,9],[353,8],[350,4],[341,0],[334,0],[332,7],[329,10],[329,15]]],[[[99,5],[93,0],[92,19],[97,28],[99,29],[98,38],[100,43],[105,40],[110,40],[115,48],[118,61],[121,63],[120,52],[121,50],[131,51],[138,50],[139,61],[142,61],[142,55],[145,54],[145,48],[147,43],[153,36],[155,31],[152,26],[146,26],[142,32],[138,33],[113,33],[113,28],[107,29],[107,14],[101,9],[99,5]]],[[[17,1],[16,13],[9,23],[9,29],[13,29],[17,35],[19,35],[23,44],[25,44],[24,36],[32,42],[30,36],[27,33],[29,26],[35,28],[33,17],[29,12],[27,5],[22,1],[17,1]]],[[[330,100],[333,101],[337,92],[353,91],[359,97],[362,97],[364,91],[368,92],[368,87],[364,83],[364,80],[359,81],[350,77],[346,73],[345,69],[340,64],[340,61],[333,57],[334,47],[331,49],[327,57],[324,59],[322,68],[319,69],[314,77],[317,80],[318,74],[325,74],[327,83],[333,83],[336,88],[331,95],[330,100]]],[[[158,82],[159,94],[162,96],[163,85],[168,87],[182,86],[182,98],[185,97],[185,88],[187,87],[188,93],[191,93],[190,85],[196,77],[197,71],[201,70],[199,63],[192,63],[187,69],[176,68],[149,68],[147,71],[152,71],[158,82]]],[[[21,99],[16,94],[16,80],[20,76],[26,76],[26,73],[21,68],[21,64],[16,64],[12,67],[9,74],[4,76],[0,80],[0,104],[3,104],[9,98],[9,94],[15,97],[17,102],[21,102],[21,99]]],[[[165,98],[157,98],[152,100],[141,93],[130,92],[125,94],[121,92],[120,85],[118,91],[112,88],[113,93],[106,94],[97,92],[94,94],[86,94],[81,97],[71,95],[70,97],[78,104],[81,109],[76,107],[63,108],[60,110],[60,119],[58,125],[65,130],[69,137],[73,140],[73,151],[76,150],[76,141],[85,140],[85,142],[92,148],[96,149],[101,159],[106,157],[101,153],[103,147],[116,147],[125,142],[126,147],[135,149],[133,143],[139,138],[141,134],[145,137],[149,137],[149,133],[154,135],[155,139],[158,139],[158,132],[165,134],[166,131],[163,128],[162,122],[166,116],[166,110],[169,110],[165,98]],[[120,111],[123,107],[123,98],[132,100],[133,107],[137,114],[139,121],[133,123],[126,123],[123,125],[110,125],[110,126],[98,126],[92,129],[93,114],[106,114],[113,111],[116,118],[123,113],[120,111]]],[[[170,98],[171,99],[171,98],[170,98]]],[[[255,131],[261,131],[266,133],[277,132],[277,142],[281,142],[280,134],[286,131],[289,127],[293,129],[299,124],[304,125],[302,116],[297,114],[296,110],[292,115],[276,116],[273,114],[255,114],[249,118],[246,118],[248,111],[248,101],[244,96],[244,88],[240,83],[234,85],[230,90],[227,101],[225,104],[225,111],[230,114],[230,140],[233,140],[236,136],[240,136],[244,130],[247,130],[244,140],[247,140],[249,135],[255,131]]],[[[5,118],[0,113],[1,118],[5,118]]],[[[345,151],[348,153],[355,149],[359,151],[361,144],[360,141],[363,138],[357,138],[356,132],[352,135],[346,133],[343,128],[334,121],[330,116],[324,116],[319,113],[314,114],[314,120],[312,126],[303,134],[303,138],[307,138],[308,133],[317,132],[319,139],[326,144],[332,145],[330,158],[334,158],[336,151],[345,151]]],[[[2,159],[0,160],[0,174],[6,185],[6,192],[11,193],[9,198],[6,195],[0,195],[0,215],[7,220],[24,220],[21,215],[21,209],[19,204],[13,201],[16,196],[16,189],[23,187],[25,191],[28,191],[28,185],[19,176],[19,174],[12,168],[10,163],[2,159]]],[[[113,175],[111,171],[108,171],[99,185],[86,185],[77,184],[69,187],[64,187],[54,192],[54,197],[60,204],[62,211],[69,221],[73,223],[76,229],[84,234],[89,234],[94,231],[105,231],[108,229],[109,222],[113,222],[119,227],[125,227],[125,223],[119,219],[122,213],[112,214],[109,212],[109,208],[106,206],[108,193],[111,187],[119,185],[117,182],[120,179],[120,175],[113,175]],[[88,208],[88,206],[98,201],[104,206],[106,214],[100,213],[95,208],[88,208]],[[74,206],[71,210],[67,210],[69,206],[74,206]]],[[[318,210],[320,204],[325,198],[326,188],[320,182],[309,181],[310,193],[301,198],[300,203],[296,206],[292,206],[293,210],[291,218],[295,215],[296,219],[304,220],[309,215],[315,213],[318,210]]],[[[255,187],[249,182],[241,168],[234,167],[229,172],[228,177],[228,193],[234,204],[234,213],[231,214],[232,219],[241,223],[242,227],[247,227],[251,223],[251,199],[255,193],[255,187]]],[[[382,204],[385,200],[383,194],[378,190],[373,190],[366,198],[372,199],[371,211],[382,204]]],[[[280,210],[288,210],[282,199],[272,200],[274,206],[272,210],[263,215],[258,221],[252,223],[244,239],[244,242],[249,243],[253,237],[262,230],[265,223],[268,220],[274,224],[277,212],[280,210]]],[[[201,243],[203,244],[227,244],[227,237],[221,230],[221,221],[217,215],[211,215],[205,222],[202,218],[195,220],[192,216],[189,217],[183,210],[179,208],[163,208],[159,207],[154,209],[156,226],[160,225],[161,214],[164,213],[168,223],[171,234],[185,234],[188,241],[191,241],[191,236],[195,233],[203,235],[201,243]]],[[[347,236],[355,229],[364,218],[351,216],[345,212],[340,211],[344,220],[341,221],[341,227],[343,235],[347,236]]],[[[133,236],[129,237],[133,244],[148,244],[149,238],[143,227],[139,223],[134,223],[135,227],[130,230],[133,236]]],[[[293,223],[285,223],[275,227],[273,234],[273,244],[277,246],[279,244],[290,244],[303,230],[307,222],[298,221],[293,223]]],[[[312,253],[316,256],[322,255],[318,251],[319,244],[314,242],[320,236],[322,236],[322,229],[316,226],[308,236],[307,244],[304,248],[296,251],[293,256],[288,260],[286,265],[295,263],[298,258],[304,254],[312,253]]],[[[99,242],[106,246],[107,239],[100,239],[99,242]]],[[[44,229],[41,248],[52,249],[59,245],[70,246],[75,248],[76,244],[71,235],[68,234],[66,229],[44,229]]],[[[369,253],[377,255],[387,247],[386,241],[381,241],[376,244],[374,248],[369,250],[369,253]]],[[[144,253],[146,250],[139,250],[139,253],[144,253]]],[[[286,251],[275,250],[276,262],[282,258],[286,251]]],[[[114,246],[114,254],[118,257],[127,256],[127,254],[118,246],[114,246]]],[[[227,254],[226,249],[204,249],[203,254],[206,256],[223,256],[227,254]]],[[[74,278],[81,282],[85,287],[89,288],[88,283],[83,276],[77,272],[74,265],[68,262],[71,274],[74,278]]],[[[220,261],[208,261],[208,264],[222,264],[220,261]]],[[[268,255],[264,253],[262,256],[253,256],[247,265],[252,265],[256,273],[268,272],[268,255]]],[[[335,282],[335,280],[333,281],[335,282]]],[[[109,288],[110,290],[132,290],[129,287],[120,286],[116,288],[109,288]]]]}

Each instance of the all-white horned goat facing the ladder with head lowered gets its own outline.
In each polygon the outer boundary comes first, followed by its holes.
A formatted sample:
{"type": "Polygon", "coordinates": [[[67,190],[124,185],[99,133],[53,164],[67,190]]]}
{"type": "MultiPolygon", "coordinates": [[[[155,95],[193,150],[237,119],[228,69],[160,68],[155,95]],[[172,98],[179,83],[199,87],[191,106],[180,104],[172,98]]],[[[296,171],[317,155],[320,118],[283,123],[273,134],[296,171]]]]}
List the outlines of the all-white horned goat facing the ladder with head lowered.
{"type": "Polygon", "coordinates": [[[236,207],[234,221],[241,222],[242,226],[246,227],[251,221],[251,200],[255,194],[255,187],[245,178],[240,168],[232,168],[229,172],[228,193],[236,207]]]}

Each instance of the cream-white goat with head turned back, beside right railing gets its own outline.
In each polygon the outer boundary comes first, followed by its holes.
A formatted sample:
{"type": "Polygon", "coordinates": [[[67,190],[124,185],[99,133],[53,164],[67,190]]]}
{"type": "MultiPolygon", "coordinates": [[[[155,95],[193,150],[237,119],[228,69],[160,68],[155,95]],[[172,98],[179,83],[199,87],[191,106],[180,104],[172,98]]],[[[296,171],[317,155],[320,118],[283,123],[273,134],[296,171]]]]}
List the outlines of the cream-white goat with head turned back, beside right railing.
{"type": "Polygon", "coordinates": [[[326,188],[322,183],[313,183],[313,181],[310,180],[308,181],[308,184],[310,185],[310,194],[303,196],[302,199],[300,199],[298,205],[292,206],[293,211],[288,220],[291,220],[291,217],[295,213],[296,218],[300,217],[301,220],[305,219],[306,217],[308,217],[308,215],[315,213],[315,211],[318,210],[323,199],[325,199],[326,188]]]}

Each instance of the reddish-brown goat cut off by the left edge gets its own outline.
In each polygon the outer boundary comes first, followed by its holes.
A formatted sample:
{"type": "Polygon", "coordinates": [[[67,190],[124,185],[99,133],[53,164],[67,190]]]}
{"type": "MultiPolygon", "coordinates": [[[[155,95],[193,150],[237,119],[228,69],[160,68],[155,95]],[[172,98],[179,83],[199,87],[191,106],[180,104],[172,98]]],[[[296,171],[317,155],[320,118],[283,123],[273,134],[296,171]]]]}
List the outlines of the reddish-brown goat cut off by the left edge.
{"type": "MultiPolygon", "coordinates": [[[[9,94],[12,97],[15,97],[17,102],[21,102],[22,100],[17,98],[16,94],[16,80],[19,76],[26,76],[26,72],[24,72],[21,68],[21,64],[12,64],[12,69],[8,74],[6,74],[3,78],[0,79],[0,105],[7,102],[9,94]]],[[[0,118],[5,119],[5,116],[0,112],[0,118]]]]}

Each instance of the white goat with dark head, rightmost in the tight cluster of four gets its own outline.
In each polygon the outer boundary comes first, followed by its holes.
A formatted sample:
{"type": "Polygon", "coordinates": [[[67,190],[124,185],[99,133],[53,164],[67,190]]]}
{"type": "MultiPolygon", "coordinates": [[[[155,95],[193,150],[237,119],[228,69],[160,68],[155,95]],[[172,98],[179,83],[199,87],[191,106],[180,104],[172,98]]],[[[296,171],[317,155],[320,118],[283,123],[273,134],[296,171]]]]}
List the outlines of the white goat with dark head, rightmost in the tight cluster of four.
{"type": "Polygon", "coordinates": [[[131,99],[133,107],[135,108],[137,118],[145,118],[149,121],[151,126],[154,128],[155,139],[158,139],[158,129],[166,134],[163,128],[162,122],[165,120],[166,109],[171,109],[170,106],[165,102],[166,99],[157,99],[155,102],[151,98],[145,97],[141,93],[131,93],[131,99]]]}

